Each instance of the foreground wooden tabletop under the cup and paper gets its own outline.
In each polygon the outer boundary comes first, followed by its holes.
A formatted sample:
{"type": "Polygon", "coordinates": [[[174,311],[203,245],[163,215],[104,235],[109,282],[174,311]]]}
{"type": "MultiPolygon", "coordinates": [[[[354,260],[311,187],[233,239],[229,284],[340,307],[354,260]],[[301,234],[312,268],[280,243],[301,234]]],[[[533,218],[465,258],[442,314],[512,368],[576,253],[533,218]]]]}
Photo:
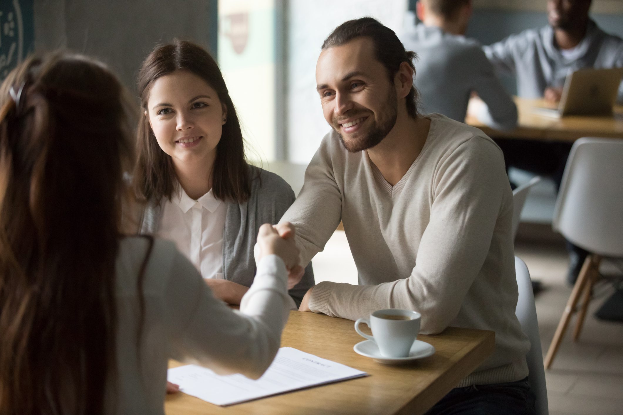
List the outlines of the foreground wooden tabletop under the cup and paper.
{"type": "MultiPolygon", "coordinates": [[[[365,325],[361,325],[366,329],[365,325]]],[[[166,398],[168,415],[196,414],[422,414],[471,373],[495,347],[495,333],[449,327],[440,335],[420,335],[437,350],[414,365],[389,366],[358,355],[364,340],[351,320],[290,312],[282,346],[338,361],[369,376],[303,389],[229,407],[179,393],[166,398]]],[[[180,363],[171,361],[171,367],[180,363]]]]}

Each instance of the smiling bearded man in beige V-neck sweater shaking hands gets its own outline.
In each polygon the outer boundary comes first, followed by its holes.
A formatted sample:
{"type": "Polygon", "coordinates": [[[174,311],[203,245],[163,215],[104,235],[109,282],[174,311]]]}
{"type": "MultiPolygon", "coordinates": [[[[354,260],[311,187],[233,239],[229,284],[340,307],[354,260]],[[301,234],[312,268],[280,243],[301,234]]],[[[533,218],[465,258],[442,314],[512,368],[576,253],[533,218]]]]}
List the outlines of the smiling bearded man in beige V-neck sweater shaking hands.
{"type": "Polygon", "coordinates": [[[371,17],[345,22],[323,44],[316,84],[332,131],[282,221],[295,224],[308,263],[341,220],[359,285],[321,282],[300,310],[354,320],[402,308],[421,312],[422,333],[493,330],[495,353],[434,411],[459,403],[478,413],[525,413],[533,408],[530,343],[515,317],[513,201],[502,152],[479,129],[417,113],[413,57],[371,17]]]}

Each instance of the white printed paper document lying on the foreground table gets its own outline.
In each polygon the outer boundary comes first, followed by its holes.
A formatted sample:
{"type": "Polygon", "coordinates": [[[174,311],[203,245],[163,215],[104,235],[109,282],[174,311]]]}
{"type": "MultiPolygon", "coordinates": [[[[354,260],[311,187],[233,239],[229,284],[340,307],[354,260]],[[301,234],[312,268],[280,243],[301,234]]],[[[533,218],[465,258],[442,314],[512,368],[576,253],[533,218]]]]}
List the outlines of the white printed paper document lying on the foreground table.
{"type": "Polygon", "coordinates": [[[368,373],[292,347],[282,347],[258,380],[242,375],[217,375],[197,365],[169,369],[167,380],[209,403],[226,406],[278,393],[366,376],[368,373]]]}

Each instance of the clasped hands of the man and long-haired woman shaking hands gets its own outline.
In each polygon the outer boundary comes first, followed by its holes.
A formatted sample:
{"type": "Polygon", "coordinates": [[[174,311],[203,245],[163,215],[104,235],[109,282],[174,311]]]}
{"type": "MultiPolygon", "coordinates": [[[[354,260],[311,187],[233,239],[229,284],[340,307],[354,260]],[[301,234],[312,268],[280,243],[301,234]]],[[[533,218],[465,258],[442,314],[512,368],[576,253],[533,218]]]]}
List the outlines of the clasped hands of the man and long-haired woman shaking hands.
{"type": "Polygon", "coordinates": [[[266,255],[277,255],[285,263],[288,270],[288,289],[301,281],[305,269],[300,264],[300,253],[294,242],[296,230],[290,222],[271,226],[268,223],[260,226],[255,245],[255,261],[266,255]]]}

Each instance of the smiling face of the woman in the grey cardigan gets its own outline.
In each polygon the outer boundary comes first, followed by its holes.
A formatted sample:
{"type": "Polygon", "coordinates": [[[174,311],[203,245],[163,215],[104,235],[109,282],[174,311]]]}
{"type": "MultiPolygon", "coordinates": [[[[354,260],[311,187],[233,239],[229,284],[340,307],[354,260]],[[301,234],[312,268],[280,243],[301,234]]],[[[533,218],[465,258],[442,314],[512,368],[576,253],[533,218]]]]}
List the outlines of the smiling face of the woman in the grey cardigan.
{"type": "Polygon", "coordinates": [[[227,108],[194,73],[176,70],[158,78],[151,86],[145,116],[175,166],[216,158],[227,108]]]}

